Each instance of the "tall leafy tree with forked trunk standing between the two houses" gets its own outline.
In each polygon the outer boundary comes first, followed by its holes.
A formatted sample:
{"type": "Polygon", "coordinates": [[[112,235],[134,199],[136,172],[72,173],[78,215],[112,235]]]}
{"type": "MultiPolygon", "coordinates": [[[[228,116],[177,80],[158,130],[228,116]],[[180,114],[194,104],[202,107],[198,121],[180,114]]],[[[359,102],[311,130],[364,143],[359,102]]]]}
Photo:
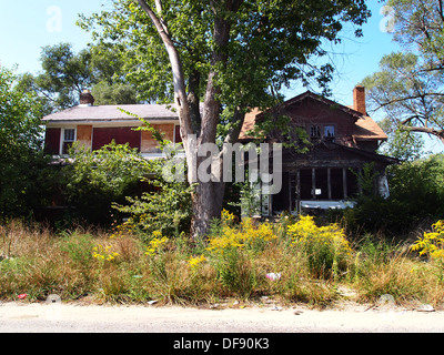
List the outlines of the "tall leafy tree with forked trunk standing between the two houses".
{"type": "Polygon", "coordinates": [[[112,11],[80,24],[100,43],[122,49],[128,77],[144,85],[145,99],[174,100],[189,182],[199,183],[192,231],[205,235],[220,216],[225,185],[198,181],[195,166],[209,155],[196,150],[215,142],[222,116],[224,142],[235,143],[249,108],[274,105],[272,92],[294,80],[326,89],[332,65],[315,67],[311,59],[325,54],[323,41],[340,40],[342,22],[359,27],[369,16],[363,0],[114,0],[112,11]]]}

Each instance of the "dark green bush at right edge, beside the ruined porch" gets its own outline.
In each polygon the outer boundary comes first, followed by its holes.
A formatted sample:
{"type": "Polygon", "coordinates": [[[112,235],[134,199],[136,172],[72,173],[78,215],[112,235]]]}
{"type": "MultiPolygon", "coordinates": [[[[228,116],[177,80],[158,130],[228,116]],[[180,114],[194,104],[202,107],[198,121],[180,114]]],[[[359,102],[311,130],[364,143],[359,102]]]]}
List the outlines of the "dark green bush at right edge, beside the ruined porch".
{"type": "Polygon", "coordinates": [[[390,197],[363,195],[354,209],[344,210],[353,233],[383,233],[405,239],[444,215],[444,155],[404,162],[387,169],[390,197]]]}

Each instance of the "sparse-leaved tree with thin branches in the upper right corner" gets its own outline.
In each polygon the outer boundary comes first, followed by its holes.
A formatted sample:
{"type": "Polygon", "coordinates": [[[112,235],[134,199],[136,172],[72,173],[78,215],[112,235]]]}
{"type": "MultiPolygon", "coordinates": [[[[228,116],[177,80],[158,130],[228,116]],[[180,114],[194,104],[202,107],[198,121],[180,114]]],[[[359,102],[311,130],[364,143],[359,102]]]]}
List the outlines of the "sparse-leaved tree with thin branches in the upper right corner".
{"type": "Polygon", "coordinates": [[[393,130],[444,142],[443,1],[390,0],[387,6],[402,51],[385,55],[380,71],[363,81],[370,106],[383,110],[393,130]]]}

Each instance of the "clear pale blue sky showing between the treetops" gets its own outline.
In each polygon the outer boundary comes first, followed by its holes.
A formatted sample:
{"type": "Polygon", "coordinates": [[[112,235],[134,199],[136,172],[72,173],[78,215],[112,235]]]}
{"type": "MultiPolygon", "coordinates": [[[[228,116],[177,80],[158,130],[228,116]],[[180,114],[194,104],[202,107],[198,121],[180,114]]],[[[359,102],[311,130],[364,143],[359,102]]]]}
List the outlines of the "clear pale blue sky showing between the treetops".
{"type": "MultiPolygon", "coordinates": [[[[75,24],[78,14],[98,12],[107,4],[109,0],[0,0],[0,64],[9,69],[18,65],[17,73],[37,73],[42,47],[69,42],[80,51],[91,37],[75,24]]],[[[326,47],[336,68],[331,99],[346,105],[353,103],[353,88],[379,70],[383,55],[398,49],[390,31],[384,30],[390,23],[390,14],[381,11],[384,4],[367,0],[367,7],[372,17],[363,27],[363,38],[356,39],[352,30],[346,30],[341,44],[326,47]]],[[[305,90],[295,84],[284,94],[291,99],[305,90]]],[[[380,119],[377,113],[373,118],[380,119]]],[[[438,142],[427,142],[427,148],[444,150],[438,142]]]]}

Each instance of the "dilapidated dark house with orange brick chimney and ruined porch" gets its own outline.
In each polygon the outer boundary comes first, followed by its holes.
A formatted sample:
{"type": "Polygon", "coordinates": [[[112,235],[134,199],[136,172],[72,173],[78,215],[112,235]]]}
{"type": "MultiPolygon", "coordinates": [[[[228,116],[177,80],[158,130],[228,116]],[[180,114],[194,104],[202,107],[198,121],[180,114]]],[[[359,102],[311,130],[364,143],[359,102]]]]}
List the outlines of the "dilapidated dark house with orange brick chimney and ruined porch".
{"type": "MultiPolygon", "coordinates": [[[[310,141],[307,152],[283,149],[283,187],[278,194],[262,196],[262,215],[353,206],[353,199],[362,193],[359,176],[366,164],[373,166],[374,191],[389,195],[385,169],[397,161],[376,153],[387,135],[367,115],[363,87],[354,89],[353,100],[352,106],[345,106],[307,91],[265,112],[246,115],[241,142],[253,139],[249,132],[266,115],[269,120],[286,116],[290,132],[302,129],[310,141]]],[[[285,136],[274,130],[266,140],[285,142],[285,136]]]]}

